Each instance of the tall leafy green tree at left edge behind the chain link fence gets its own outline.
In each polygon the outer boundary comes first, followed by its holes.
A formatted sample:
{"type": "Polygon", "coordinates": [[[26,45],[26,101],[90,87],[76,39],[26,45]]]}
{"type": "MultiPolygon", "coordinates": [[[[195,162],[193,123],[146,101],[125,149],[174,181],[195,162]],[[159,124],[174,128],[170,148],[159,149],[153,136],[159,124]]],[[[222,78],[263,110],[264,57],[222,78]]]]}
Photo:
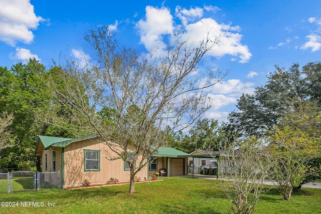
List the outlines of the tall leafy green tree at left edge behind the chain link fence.
{"type": "MultiPolygon", "coordinates": [[[[2,158],[5,158],[6,167],[19,167],[24,162],[33,162],[35,166],[34,147],[36,144],[36,123],[35,111],[41,107],[46,97],[37,96],[36,91],[39,84],[38,78],[33,70],[39,74],[45,71],[43,65],[35,59],[30,60],[27,65],[18,63],[13,65],[11,70],[1,68],[0,84],[2,85],[0,112],[13,114],[14,119],[10,128],[15,139],[14,147],[1,151],[2,158]],[[19,144],[18,144],[19,142],[19,144]]],[[[4,161],[2,161],[4,163],[4,161]]]]}

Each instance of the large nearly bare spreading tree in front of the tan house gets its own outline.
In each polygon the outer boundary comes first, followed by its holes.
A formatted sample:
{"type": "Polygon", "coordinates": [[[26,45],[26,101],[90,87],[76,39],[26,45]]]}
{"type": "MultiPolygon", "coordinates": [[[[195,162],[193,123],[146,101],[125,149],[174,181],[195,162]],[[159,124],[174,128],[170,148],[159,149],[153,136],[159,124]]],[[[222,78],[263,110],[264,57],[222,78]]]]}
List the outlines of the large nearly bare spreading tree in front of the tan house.
{"type": "Polygon", "coordinates": [[[61,78],[67,87],[55,92],[71,109],[71,119],[79,120],[81,129],[98,134],[117,154],[110,159],[128,163],[132,193],[135,174],[166,143],[165,128],[182,130],[210,108],[206,89],[225,74],[207,67],[202,59],[217,40],[204,38],[192,44],[177,32],[166,50],[150,54],[119,47],[108,27],[89,31],[85,40],[97,64],[79,68],[67,63],[64,70],[69,78],[61,78]]]}

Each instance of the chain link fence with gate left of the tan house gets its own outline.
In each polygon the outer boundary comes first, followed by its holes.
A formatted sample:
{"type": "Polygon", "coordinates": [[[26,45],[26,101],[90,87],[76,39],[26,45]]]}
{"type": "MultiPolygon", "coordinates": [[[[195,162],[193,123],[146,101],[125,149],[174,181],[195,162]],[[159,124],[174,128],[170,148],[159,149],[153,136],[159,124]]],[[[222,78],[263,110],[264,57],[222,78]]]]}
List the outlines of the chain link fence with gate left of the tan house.
{"type": "Polygon", "coordinates": [[[57,172],[13,171],[0,173],[0,194],[62,188],[62,174],[57,172]]]}

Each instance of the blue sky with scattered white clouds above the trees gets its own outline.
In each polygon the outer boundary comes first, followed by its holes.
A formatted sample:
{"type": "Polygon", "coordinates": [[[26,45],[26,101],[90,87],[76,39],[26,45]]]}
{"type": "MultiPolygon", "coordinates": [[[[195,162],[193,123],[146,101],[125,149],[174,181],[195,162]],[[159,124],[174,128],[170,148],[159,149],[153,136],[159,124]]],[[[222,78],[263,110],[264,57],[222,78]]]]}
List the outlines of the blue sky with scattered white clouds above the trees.
{"type": "Polygon", "coordinates": [[[120,43],[142,52],[164,45],[178,26],[197,40],[222,34],[211,64],[230,70],[210,88],[206,117],[226,121],[242,93],[266,82],[274,65],[319,61],[321,1],[0,1],[0,66],[36,57],[47,68],[59,54],[81,62],[91,49],[89,29],[111,26],[120,43]]]}

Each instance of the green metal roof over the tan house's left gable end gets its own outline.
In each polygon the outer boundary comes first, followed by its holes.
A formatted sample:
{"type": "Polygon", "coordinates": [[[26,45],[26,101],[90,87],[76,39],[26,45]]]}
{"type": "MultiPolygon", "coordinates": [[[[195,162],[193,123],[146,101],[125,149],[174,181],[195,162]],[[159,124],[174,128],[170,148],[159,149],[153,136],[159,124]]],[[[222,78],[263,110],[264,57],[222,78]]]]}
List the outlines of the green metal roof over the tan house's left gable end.
{"type": "MultiPolygon", "coordinates": [[[[78,142],[81,140],[87,140],[91,138],[95,138],[97,135],[89,135],[86,137],[79,138],[64,138],[64,137],[49,137],[49,136],[39,136],[39,139],[43,143],[45,149],[49,149],[51,147],[66,147],[70,143],[78,142]]],[[[39,142],[39,140],[38,140],[39,142]]]]}

